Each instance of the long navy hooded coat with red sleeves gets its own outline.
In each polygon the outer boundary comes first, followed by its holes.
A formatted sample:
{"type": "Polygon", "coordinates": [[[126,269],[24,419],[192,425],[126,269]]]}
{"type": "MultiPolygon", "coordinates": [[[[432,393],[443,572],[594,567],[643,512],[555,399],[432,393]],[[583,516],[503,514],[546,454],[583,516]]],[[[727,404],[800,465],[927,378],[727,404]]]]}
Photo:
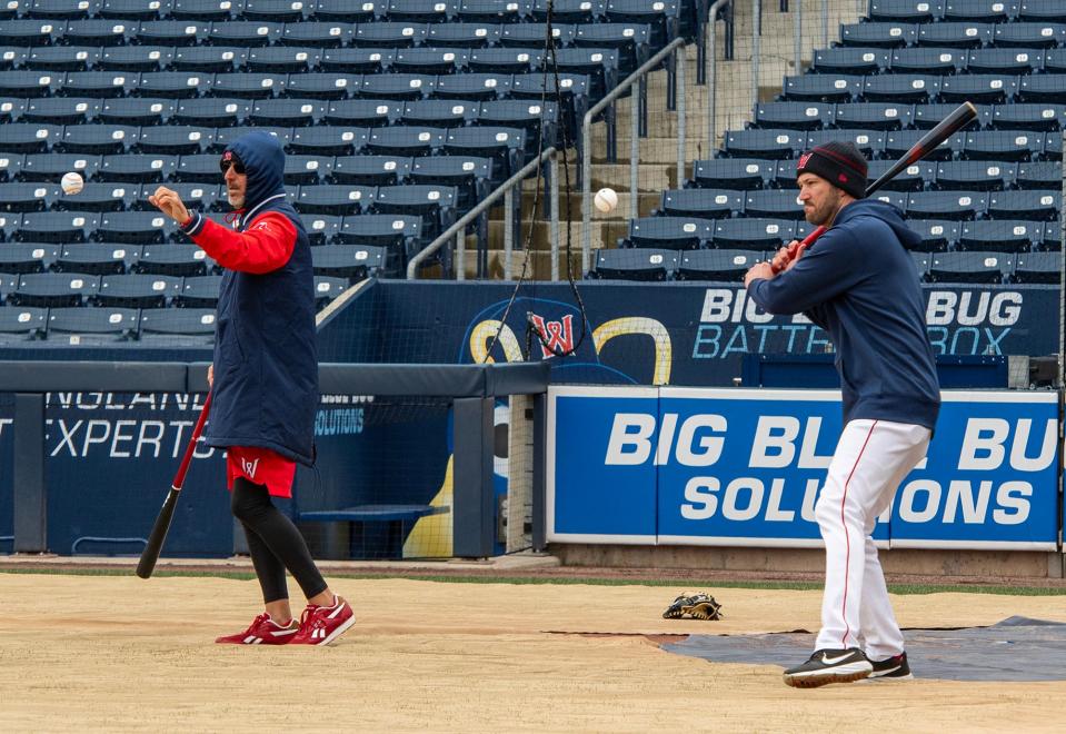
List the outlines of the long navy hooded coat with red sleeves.
{"type": "Polygon", "coordinates": [[[226,150],[248,175],[237,231],[199,214],[182,226],[226,268],[205,440],[269,448],[310,465],[319,399],[310,242],[286,200],[285,153],[277,138],[250,132],[226,150]]]}

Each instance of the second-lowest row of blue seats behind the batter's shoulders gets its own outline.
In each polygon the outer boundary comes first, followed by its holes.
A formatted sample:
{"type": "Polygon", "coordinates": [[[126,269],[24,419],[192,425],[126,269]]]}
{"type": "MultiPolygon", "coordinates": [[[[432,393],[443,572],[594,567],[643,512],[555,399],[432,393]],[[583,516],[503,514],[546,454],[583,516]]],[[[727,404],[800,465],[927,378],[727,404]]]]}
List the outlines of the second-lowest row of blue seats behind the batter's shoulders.
{"type": "MultiPolygon", "coordinates": [[[[879,198],[879,197],[878,197],[879,198]]],[[[1023,252],[1059,250],[1059,222],[1007,219],[958,221],[909,219],[907,226],[921,236],[917,250],[990,250],[1023,252]]],[[[700,219],[696,217],[644,217],[629,222],[619,248],[655,249],[768,249],[803,239],[814,227],[803,219],[700,219]]]]}

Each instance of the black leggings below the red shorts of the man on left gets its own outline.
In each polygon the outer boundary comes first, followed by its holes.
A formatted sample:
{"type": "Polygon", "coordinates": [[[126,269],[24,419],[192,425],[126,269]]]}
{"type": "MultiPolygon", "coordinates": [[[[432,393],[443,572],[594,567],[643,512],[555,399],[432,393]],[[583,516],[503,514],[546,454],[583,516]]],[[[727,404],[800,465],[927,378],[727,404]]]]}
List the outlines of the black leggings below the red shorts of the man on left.
{"type": "Polygon", "coordinates": [[[237,477],[233,480],[230,508],[248,536],[248,550],[262,587],[265,603],[289,598],[285,582],[286,568],[303,589],[307,598],[326,591],[326,579],[311,559],[307,542],[292,520],[273,506],[265,486],[252,484],[245,477],[237,477]]]}

